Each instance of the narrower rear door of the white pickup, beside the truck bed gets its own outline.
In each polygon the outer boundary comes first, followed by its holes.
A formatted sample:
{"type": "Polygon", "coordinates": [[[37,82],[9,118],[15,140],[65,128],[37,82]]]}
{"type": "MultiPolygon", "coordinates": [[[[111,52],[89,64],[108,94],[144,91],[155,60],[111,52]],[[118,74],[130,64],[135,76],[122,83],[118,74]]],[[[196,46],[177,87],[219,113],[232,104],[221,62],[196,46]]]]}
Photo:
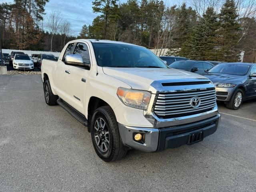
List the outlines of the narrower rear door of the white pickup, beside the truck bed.
{"type": "Polygon", "coordinates": [[[71,54],[74,50],[74,43],[68,44],[62,59],[59,59],[54,71],[54,82],[56,92],[60,98],[69,104],[73,101],[70,96],[70,66],[64,63],[67,54],[71,54]]]}

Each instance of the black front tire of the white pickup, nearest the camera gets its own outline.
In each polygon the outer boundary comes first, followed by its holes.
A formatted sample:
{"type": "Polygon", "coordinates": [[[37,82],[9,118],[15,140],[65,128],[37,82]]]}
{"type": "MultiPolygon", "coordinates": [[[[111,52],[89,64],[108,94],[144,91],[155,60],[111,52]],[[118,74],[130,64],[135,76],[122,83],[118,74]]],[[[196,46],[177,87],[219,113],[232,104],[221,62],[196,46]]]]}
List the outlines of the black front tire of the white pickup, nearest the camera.
{"type": "MultiPolygon", "coordinates": [[[[103,122],[103,123],[104,123],[103,122]]],[[[100,123],[101,120],[100,120],[100,123]]],[[[97,155],[106,162],[113,162],[116,160],[122,159],[126,155],[126,148],[124,144],[122,143],[119,130],[118,130],[118,124],[116,122],[116,117],[114,115],[114,112],[110,106],[103,106],[94,111],[94,114],[92,115],[92,123],[91,125],[91,136],[92,136],[92,144],[94,146],[94,149],[97,153],[97,155]],[[104,120],[105,124],[101,127],[98,126],[98,131],[96,130],[97,122],[100,119],[104,120]],[[103,128],[102,128],[103,127],[103,128]],[[102,140],[100,141],[100,134],[104,132],[108,132],[108,148],[106,149],[107,144],[107,134],[102,134],[102,140]],[[99,134],[100,133],[100,134],[99,134]],[[96,138],[98,137],[98,139],[96,138]],[[101,147],[96,143],[96,140],[98,144],[101,144],[101,147]],[[103,144],[105,143],[104,149],[106,151],[101,150],[103,149],[103,144]]],[[[98,124],[99,125],[99,124],[98,124]]]]}

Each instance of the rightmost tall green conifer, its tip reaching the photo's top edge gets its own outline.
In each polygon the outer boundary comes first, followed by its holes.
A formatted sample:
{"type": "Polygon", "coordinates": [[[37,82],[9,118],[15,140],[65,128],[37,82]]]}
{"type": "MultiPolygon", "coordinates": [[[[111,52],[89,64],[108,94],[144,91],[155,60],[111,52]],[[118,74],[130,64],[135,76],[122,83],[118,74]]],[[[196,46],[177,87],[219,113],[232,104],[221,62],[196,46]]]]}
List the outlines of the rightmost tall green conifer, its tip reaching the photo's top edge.
{"type": "Polygon", "coordinates": [[[218,60],[236,62],[239,59],[240,51],[237,48],[240,24],[234,0],[226,0],[219,14],[218,29],[218,60]]]}

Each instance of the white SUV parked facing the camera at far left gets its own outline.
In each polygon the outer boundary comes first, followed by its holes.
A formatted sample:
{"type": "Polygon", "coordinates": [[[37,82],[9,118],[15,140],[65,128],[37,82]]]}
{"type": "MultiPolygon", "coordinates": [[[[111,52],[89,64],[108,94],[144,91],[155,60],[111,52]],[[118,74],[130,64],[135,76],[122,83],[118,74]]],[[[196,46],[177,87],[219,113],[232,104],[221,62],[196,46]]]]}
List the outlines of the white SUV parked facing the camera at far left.
{"type": "Polygon", "coordinates": [[[27,54],[15,54],[13,60],[13,70],[33,70],[34,63],[27,54]]]}

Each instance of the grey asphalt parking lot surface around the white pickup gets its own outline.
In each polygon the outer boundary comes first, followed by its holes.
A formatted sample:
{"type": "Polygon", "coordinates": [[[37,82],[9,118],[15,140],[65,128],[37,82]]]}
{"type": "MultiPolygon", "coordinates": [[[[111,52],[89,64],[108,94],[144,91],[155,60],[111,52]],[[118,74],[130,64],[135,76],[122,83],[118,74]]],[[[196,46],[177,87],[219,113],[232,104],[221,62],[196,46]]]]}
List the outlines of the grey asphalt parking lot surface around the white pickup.
{"type": "Polygon", "coordinates": [[[44,101],[40,75],[0,75],[0,191],[256,191],[256,100],[219,105],[215,134],[106,163],[90,134],[44,101]]]}

